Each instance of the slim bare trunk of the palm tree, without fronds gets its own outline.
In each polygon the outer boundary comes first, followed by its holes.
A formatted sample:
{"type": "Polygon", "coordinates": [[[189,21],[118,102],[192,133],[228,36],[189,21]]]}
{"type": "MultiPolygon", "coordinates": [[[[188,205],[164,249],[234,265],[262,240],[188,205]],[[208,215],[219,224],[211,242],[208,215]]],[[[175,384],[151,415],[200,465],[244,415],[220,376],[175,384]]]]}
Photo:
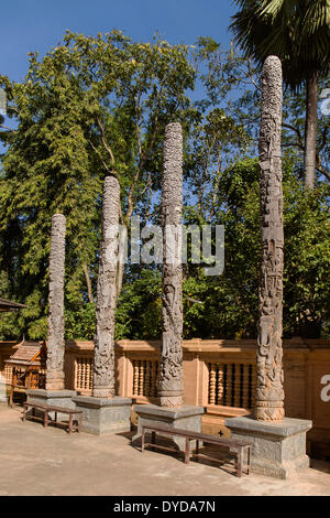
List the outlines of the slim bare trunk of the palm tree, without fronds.
{"type": "Polygon", "coordinates": [[[307,79],[305,122],[305,187],[314,188],[316,171],[316,145],[318,132],[318,72],[307,79]]]}

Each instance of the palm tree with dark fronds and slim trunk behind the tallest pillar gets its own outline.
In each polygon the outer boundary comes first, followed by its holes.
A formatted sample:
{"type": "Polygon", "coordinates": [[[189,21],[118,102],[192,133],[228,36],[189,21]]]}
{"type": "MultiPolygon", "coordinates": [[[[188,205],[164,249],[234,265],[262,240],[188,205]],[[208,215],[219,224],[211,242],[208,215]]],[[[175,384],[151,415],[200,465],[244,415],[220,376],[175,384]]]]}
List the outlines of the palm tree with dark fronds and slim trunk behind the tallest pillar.
{"type": "Polygon", "coordinates": [[[277,55],[293,90],[306,86],[305,185],[314,188],[318,79],[329,71],[329,0],[235,0],[232,29],[245,55],[262,64],[277,55]]]}

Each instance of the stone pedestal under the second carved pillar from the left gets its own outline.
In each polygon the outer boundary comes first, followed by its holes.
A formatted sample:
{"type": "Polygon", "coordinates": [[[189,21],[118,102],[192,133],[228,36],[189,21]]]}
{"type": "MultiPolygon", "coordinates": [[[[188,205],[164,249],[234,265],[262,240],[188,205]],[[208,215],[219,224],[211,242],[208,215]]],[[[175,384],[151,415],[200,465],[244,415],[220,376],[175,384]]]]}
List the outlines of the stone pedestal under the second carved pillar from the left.
{"type": "Polygon", "coordinates": [[[77,396],[74,401],[77,410],[82,410],[82,432],[102,435],[131,430],[132,399],[77,396]]]}

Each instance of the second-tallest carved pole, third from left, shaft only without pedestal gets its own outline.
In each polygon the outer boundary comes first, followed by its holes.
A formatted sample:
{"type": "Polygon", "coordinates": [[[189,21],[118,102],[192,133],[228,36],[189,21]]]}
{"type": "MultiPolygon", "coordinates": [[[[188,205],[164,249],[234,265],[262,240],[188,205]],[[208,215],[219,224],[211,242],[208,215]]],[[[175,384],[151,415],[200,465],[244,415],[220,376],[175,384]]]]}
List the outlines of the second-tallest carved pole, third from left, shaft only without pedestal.
{"type": "Polygon", "coordinates": [[[158,396],[162,407],[184,403],[182,212],[183,132],[179,122],[167,125],[162,185],[163,225],[163,338],[158,396]]]}

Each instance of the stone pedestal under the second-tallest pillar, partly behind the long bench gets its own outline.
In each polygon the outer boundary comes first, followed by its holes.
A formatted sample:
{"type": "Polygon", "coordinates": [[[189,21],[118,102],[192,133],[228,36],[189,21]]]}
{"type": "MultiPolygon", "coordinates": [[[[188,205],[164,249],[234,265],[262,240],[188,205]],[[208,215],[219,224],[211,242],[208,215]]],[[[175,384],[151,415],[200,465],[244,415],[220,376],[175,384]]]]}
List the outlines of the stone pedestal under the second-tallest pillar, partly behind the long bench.
{"type": "MultiPolygon", "coordinates": [[[[135,404],[134,412],[139,416],[138,433],[133,436],[133,444],[141,443],[141,427],[143,424],[167,424],[172,428],[180,428],[201,432],[201,416],[204,407],[184,404],[183,407],[157,407],[156,404],[135,404]]],[[[161,434],[163,435],[163,434],[161,434]]],[[[164,435],[166,436],[166,435],[164,435]]],[[[185,451],[185,438],[167,438],[168,442],[185,451]]]]}

